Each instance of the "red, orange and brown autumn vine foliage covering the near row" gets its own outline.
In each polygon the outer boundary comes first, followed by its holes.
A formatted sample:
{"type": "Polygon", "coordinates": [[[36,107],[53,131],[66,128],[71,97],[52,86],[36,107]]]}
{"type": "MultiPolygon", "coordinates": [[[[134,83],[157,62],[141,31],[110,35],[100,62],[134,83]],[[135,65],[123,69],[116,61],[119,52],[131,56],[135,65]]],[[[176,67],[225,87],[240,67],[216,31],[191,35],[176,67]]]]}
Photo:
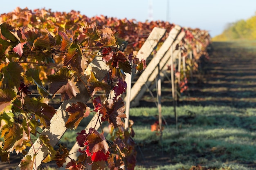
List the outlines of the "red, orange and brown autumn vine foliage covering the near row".
{"type": "MultiPolygon", "coordinates": [[[[173,24],[168,22],[136,22],[96,16],[88,18],[79,12],[52,12],[51,10],[16,8],[11,13],[0,15],[0,156],[9,161],[10,152],[26,154],[26,148],[33,148],[32,136],[49,128],[56,110],[49,104],[56,95],[67,101],[81,93],[78,82],[88,90],[94,108],[85,102],[74,102],[65,111],[69,117],[66,128],[76,129],[83,118],[97,114],[100,123],[110,124],[111,140],[93,127],[77,134],[81,155],[79,160],[70,160],[66,168],[84,169],[87,165],[94,169],[111,170],[134,169],[136,163],[135,142],[132,121],[124,129],[124,101],[120,97],[126,92],[126,73],[132,68],[143,71],[145,60],[136,57],[149,33],[155,27],[169,32],[173,24]],[[103,81],[99,81],[90,68],[95,57],[101,57],[109,70],[103,81]],[[133,64],[133,65],[132,65],[133,64]],[[104,91],[106,98],[96,97],[104,91]],[[114,91],[114,96],[110,96],[114,91]],[[34,95],[33,95],[34,94],[34,95]],[[36,94],[36,95],[35,95],[36,94]],[[92,111],[93,110],[93,111],[92,111]],[[115,130],[114,130],[115,129],[115,130]],[[84,148],[84,149],[83,149],[84,148]],[[106,165],[107,164],[107,165],[106,165]]],[[[207,44],[206,32],[183,29],[186,38],[181,43],[190,43],[182,51],[193,50],[196,44],[207,44]]],[[[166,35],[167,36],[167,35],[166,35]]],[[[164,41],[164,38],[163,40],[164,41]]],[[[180,44],[182,45],[182,44],[180,44]]],[[[206,48],[206,46],[202,46],[206,48]]],[[[63,166],[69,151],[64,146],[55,150],[47,136],[40,136],[49,154],[43,162],[55,160],[63,166]]],[[[25,156],[21,169],[31,169],[36,157],[25,156]]]]}

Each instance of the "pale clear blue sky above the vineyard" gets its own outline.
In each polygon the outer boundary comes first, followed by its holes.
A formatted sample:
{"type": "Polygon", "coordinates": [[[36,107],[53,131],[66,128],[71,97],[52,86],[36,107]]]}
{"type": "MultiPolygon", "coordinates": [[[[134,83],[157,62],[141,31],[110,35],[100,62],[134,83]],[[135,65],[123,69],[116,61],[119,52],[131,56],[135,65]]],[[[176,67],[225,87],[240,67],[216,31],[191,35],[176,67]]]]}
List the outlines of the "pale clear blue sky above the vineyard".
{"type": "MultiPolygon", "coordinates": [[[[256,0],[151,0],[153,20],[209,31],[211,36],[222,33],[228,23],[247,19],[256,12],[256,0]],[[167,7],[167,4],[168,7],[167,7]],[[167,17],[168,9],[168,17],[167,17]]],[[[149,19],[150,0],[2,0],[0,13],[8,13],[16,7],[52,9],[52,11],[80,11],[88,17],[149,19]]]]}

